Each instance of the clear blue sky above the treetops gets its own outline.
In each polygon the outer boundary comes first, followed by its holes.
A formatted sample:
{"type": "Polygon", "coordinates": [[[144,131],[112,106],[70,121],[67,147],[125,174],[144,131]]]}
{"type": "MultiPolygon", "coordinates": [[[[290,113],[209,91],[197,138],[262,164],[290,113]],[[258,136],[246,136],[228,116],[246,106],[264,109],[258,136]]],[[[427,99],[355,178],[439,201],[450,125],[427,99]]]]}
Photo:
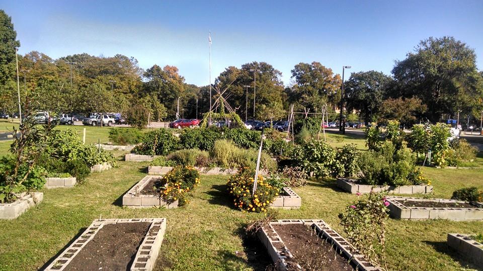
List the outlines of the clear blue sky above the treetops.
{"type": "MultiPolygon", "coordinates": [[[[133,56],[143,69],[174,65],[187,83],[207,85],[228,66],[265,61],[290,83],[299,62],[342,73],[377,70],[422,39],[454,36],[483,57],[483,1],[5,1],[21,42],[52,58],[133,56]]],[[[347,79],[347,77],[346,77],[347,79]]]]}

